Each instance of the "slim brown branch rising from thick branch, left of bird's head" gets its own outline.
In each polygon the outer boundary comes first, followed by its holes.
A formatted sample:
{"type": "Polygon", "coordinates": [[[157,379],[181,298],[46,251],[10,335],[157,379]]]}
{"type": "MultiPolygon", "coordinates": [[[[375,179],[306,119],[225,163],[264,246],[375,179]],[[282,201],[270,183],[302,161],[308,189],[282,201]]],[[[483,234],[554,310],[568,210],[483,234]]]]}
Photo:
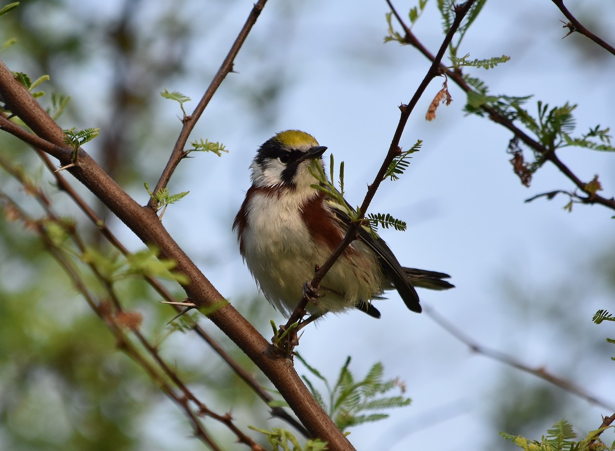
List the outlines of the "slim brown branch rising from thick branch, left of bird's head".
{"type": "MultiPolygon", "coordinates": [[[[167,166],[165,166],[164,170],[162,171],[161,177],[158,180],[158,183],[156,183],[156,188],[154,188],[154,190],[152,191],[154,194],[167,186],[167,183],[169,183],[173,171],[180,163],[181,159],[185,158],[186,151],[184,150],[184,148],[186,146],[186,142],[188,142],[188,137],[192,132],[192,129],[194,129],[194,126],[199,120],[200,115],[203,114],[205,107],[208,105],[209,101],[212,100],[213,94],[215,94],[216,90],[218,90],[218,87],[220,87],[220,84],[224,81],[224,78],[226,78],[226,76],[233,70],[233,62],[235,60],[235,57],[239,53],[239,49],[244,44],[245,39],[248,37],[248,33],[250,33],[250,30],[252,30],[252,26],[254,26],[254,24],[256,23],[256,19],[261,14],[261,11],[263,10],[263,7],[265,6],[266,2],[267,0],[258,0],[258,2],[254,4],[250,15],[248,15],[248,18],[245,21],[244,27],[237,35],[235,42],[232,44],[231,50],[229,50],[228,55],[226,55],[226,58],[224,58],[220,69],[218,69],[218,72],[213,77],[212,82],[205,91],[205,94],[203,94],[203,97],[200,99],[199,104],[196,106],[190,116],[184,116],[184,118],[182,119],[184,125],[181,129],[180,136],[177,138],[177,142],[175,142],[175,146],[173,147],[173,151],[171,153],[169,161],[167,162],[167,166]]],[[[149,199],[148,207],[153,209],[153,198],[149,199]]]]}

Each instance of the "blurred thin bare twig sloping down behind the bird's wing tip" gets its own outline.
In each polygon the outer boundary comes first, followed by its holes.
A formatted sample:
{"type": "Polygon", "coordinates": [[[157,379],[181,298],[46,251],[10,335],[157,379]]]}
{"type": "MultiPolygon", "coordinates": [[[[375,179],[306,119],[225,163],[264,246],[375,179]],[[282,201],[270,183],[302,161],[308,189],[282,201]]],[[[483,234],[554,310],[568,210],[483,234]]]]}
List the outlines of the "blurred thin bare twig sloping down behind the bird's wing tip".
{"type": "Polygon", "coordinates": [[[606,407],[606,409],[609,410],[615,410],[613,405],[609,405],[608,402],[603,401],[597,396],[589,393],[588,391],[576,385],[572,381],[552,375],[542,367],[531,368],[529,365],[526,365],[525,363],[516,359],[513,356],[509,356],[508,354],[496,351],[495,349],[490,349],[486,346],[480,345],[476,341],[472,340],[472,338],[470,338],[460,329],[458,329],[458,327],[455,327],[453,323],[447,321],[443,316],[438,314],[434,309],[425,307],[423,308],[423,311],[427,314],[427,316],[431,317],[431,319],[433,319],[436,324],[442,327],[442,329],[453,335],[453,337],[457,338],[459,341],[461,341],[461,343],[464,343],[464,345],[466,345],[475,353],[482,354],[483,356],[489,357],[490,359],[496,360],[503,364],[514,367],[518,370],[522,370],[526,373],[530,373],[536,377],[544,379],[547,382],[552,383],[553,385],[558,386],[565,391],[568,391],[568,393],[576,394],[576,396],[579,396],[582,399],[585,399],[585,401],[591,402],[592,404],[601,405],[602,407],[606,407]]]}

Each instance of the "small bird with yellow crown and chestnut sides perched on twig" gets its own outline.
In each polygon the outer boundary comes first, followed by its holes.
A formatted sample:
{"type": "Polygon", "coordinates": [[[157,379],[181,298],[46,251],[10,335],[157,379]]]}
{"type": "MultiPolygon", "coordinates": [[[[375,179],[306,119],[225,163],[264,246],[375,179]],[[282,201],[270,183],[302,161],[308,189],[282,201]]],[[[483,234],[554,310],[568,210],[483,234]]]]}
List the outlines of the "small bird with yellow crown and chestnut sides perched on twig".
{"type": "MultiPolygon", "coordinates": [[[[286,130],[264,143],[250,166],[252,186],[245,195],[233,229],[239,250],[269,302],[291,313],[314,277],[338,247],[351,220],[319,183],[309,166],[327,150],[305,132],[286,130]]],[[[318,297],[308,303],[312,317],[358,308],[373,317],[373,299],[395,288],[407,307],[421,311],[414,286],[452,288],[450,276],[404,268],[386,243],[364,227],[320,282],[318,297]],[[414,286],[413,286],[414,285],[414,286]]]]}

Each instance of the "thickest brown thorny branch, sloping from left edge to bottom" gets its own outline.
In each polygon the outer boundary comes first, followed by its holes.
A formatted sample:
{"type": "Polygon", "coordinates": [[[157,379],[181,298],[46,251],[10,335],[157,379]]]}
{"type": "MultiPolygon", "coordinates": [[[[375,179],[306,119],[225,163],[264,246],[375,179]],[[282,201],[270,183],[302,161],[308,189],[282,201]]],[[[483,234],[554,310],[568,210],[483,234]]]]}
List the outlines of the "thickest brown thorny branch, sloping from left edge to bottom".
{"type": "MultiPolygon", "coordinates": [[[[63,154],[65,148],[62,147],[62,130],[34,101],[30,92],[23,89],[13,78],[3,63],[0,63],[0,95],[7,105],[10,105],[10,111],[22,119],[30,129],[35,130],[40,137],[29,135],[25,137],[26,142],[49,152],[52,156],[66,158],[63,154]],[[58,153],[58,150],[61,152],[58,153]]],[[[0,118],[0,126],[10,127],[7,122],[12,124],[0,118]]],[[[92,191],[141,241],[145,244],[155,244],[160,250],[161,257],[177,262],[176,270],[188,276],[190,281],[183,288],[191,301],[199,306],[211,307],[223,299],[172,239],[154,211],[141,207],[130,198],[87,153],[81,151],[79,164],[68,171],[92,191]]],[[[354,449],[309,393],[295,372],[292,362],[271,356],[267,341],[236,309],[227,304],[223,308],[216,309],[209,318],[271,380],[312,436],[327,441],[331,449],[354,449]]]]}

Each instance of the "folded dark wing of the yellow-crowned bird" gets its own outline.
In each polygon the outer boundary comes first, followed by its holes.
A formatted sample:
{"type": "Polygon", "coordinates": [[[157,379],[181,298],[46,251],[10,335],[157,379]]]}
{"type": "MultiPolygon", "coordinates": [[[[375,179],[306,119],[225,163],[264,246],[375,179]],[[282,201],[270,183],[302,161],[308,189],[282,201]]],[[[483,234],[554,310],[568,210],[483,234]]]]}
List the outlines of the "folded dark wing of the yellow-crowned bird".
{"type": "MultiPolygon", "coordinates": [[[[346,205],[354,211],[348,202],[346,202],[346,205]]],[[[346,210],[337,202],[328,200],[327,206],[330,207],[331,214],[337,218],[339,224],[343,225],[344,229],[347,229],[352,224],[352,220],[346,210]]],[[[359,239],[378,255],[384,274],[391,279],[406,306],[410,310],[420,313],[422,309],[421,305],[419,305],[419,297],[416,294],[415,287],[412,286],[404,268],[399,264],[399,261],[397,261],[397,258],[395,258],[386,242],[378,234],[372,233],[365,226],[359,228],[359,239]]]]}

